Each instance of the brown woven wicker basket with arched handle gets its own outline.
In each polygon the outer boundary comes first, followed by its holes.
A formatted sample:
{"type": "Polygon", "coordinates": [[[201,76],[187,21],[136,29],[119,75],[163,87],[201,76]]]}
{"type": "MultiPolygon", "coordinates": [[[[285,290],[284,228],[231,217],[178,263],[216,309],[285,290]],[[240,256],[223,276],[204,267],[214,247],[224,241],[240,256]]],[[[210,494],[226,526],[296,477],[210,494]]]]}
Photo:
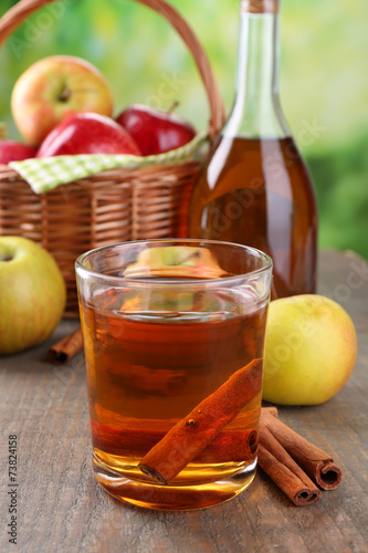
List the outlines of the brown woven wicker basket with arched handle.
{"type": "MultiPolygon", "coordinates": [[[[31,13],[54,0],[21,0],[0,19],[0,45],[31,13]]],[[[137,0],[164,15],[192,53],[207,92],[213,137],[224,109],[208,58],[181,15],[162,0],[137,0]]],[[[30,238],[55,258],[67,286],[65,315],[77,314],[74,261],[93,248],[149,238],[186,236],[198,161],[109,169],[36,195],[0,165],[0,236],[30,238]]]]}

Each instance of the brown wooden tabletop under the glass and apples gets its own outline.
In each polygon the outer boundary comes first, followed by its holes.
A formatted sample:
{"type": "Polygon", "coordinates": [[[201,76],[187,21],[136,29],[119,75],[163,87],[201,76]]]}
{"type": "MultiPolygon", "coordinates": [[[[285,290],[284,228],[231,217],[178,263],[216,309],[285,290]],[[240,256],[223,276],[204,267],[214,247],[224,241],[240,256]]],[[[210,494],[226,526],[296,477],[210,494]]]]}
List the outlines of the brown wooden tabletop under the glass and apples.
{"type": "Polygon", "coordinates": [[[45,362],[49,346],[76,327],[63,321],[43,345],[0,358],[0,551],[368,552],[368,264],[354,253],[324,251],[318,282],[319,293],[354,320],[357,364],[333,399],[281,408],[280,418],[334,457],[344,474],[339,488],[296,508],[259,470],[242,494],[210,509],[150,511],[115,500],[92,472],[82,353],[62,368],[45,362]],[[19,441],[18,545],[7,533],[12,434],[19,441]]]}

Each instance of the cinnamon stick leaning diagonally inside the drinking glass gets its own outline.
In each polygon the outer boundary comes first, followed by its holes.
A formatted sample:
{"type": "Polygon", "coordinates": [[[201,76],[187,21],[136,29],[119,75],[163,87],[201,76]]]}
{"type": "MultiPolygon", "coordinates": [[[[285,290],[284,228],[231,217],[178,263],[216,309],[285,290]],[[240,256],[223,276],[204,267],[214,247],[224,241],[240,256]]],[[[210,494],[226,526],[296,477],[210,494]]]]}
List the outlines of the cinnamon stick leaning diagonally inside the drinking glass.
{"type": "Polygon", "coordinates": [[[167,484],[233,420],[262,389],[262,359],[236,371],[148,451],[139,469],[167,484]]]}

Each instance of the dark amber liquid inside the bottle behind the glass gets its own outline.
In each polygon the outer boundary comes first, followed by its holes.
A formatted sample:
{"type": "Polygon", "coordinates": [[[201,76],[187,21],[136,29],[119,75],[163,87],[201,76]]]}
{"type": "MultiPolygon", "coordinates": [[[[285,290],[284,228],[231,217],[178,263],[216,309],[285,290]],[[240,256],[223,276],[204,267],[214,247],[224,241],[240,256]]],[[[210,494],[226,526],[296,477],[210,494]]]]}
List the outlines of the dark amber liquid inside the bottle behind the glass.
{"type": "Polygon", "coordinates": [[[293,139],[221,136],[193,191],[189,237],[271,255],[280,298],[315,292],[316,201],[293,139]]]}

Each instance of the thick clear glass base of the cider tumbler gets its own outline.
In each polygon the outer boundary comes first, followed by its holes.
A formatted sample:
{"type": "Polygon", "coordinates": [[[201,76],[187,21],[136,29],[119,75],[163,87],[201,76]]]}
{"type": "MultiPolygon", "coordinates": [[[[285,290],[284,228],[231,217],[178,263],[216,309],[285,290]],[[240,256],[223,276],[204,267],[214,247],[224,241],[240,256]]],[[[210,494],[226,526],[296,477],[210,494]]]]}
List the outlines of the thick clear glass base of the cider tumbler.
{"type": "Polygon", "coordinates": [[[244,491],[255,477],[256,460],[217,481],[192,484],[156,484],[118,474],[93,458],[98,483],[115,498],[161,511],[203,509],[223,503],[244,491]]]}

